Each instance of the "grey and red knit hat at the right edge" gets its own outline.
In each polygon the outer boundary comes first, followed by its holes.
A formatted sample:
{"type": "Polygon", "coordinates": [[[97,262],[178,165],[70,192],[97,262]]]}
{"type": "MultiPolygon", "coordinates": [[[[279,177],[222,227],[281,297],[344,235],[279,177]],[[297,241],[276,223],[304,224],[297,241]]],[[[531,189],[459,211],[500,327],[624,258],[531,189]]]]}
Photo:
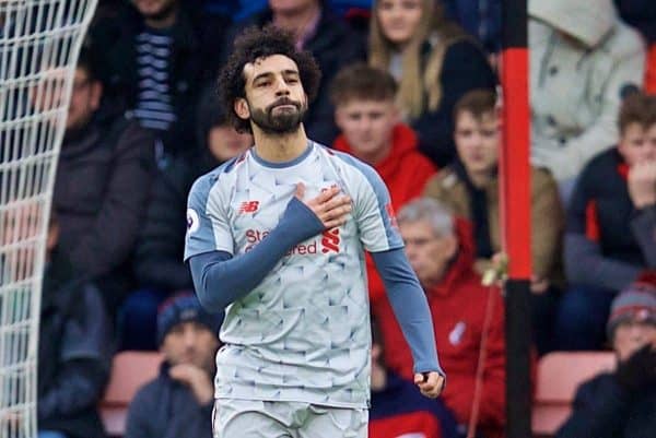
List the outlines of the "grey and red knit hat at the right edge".
{"type": "Polygon", "coordinates": [[[635,282],[624,288],[612,300],[608,318],[608,338],[622,322],[640,321],[656,325],[656,286],[635,282]]]}

